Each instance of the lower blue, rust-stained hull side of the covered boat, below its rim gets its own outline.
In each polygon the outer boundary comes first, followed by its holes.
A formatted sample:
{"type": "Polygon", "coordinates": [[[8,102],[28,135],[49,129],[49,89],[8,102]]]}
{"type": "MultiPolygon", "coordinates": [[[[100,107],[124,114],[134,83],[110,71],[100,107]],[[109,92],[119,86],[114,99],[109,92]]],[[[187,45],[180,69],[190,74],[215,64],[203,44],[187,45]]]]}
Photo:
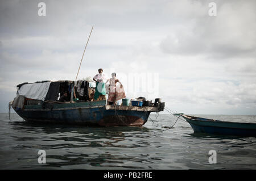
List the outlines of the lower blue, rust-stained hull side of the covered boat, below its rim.
{"type": "Polygon", "coordinates": [[[100,126],[142,126],[150,112],[77,108],[71,110],[17,110],[26,121],[57,124],[84,124],[100,126]]]}

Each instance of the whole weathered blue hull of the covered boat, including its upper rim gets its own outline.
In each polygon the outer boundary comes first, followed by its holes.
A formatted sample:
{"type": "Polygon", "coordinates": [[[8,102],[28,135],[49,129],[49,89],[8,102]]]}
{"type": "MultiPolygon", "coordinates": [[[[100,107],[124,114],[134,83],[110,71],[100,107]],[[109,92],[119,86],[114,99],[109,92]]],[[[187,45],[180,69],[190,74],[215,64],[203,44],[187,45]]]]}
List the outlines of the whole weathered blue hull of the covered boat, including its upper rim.
{"type": "Polygon", "coordinates": [[[25,106],[15,110],[26,121],[36,123],[83,124],[140,127],[155,107],[105,106],[105,101],[25,106]]]}

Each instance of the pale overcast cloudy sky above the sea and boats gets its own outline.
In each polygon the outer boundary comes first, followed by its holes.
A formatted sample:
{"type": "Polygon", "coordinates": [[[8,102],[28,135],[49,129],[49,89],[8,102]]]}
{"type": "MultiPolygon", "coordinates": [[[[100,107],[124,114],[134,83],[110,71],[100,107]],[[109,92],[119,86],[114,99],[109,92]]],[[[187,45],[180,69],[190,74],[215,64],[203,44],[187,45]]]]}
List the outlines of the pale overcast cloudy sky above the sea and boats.
{"type": "Polygon", "coordinates": [[[255,0],[1,0],[0,112],[19,83],[74,80],[94,26],[79,78],[102,68],[117,73],[128,98],[160,97],[184,113],[255,115],[255,12],[255,0]]]}

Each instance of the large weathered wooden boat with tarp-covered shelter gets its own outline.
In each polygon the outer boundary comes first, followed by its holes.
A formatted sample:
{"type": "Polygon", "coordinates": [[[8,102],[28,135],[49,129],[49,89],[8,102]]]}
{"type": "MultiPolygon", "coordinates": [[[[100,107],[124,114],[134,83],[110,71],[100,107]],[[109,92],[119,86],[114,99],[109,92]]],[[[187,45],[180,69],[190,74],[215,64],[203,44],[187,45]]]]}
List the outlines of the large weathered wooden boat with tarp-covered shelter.
{"type": "Polygon", "coordinates": [[[17,86],[17,96],[9,103],[9,107],[13,107],[25,121],[32,123],[103,127],[141,127],[147,122],[151,112],[164,109],[162,102],[155,102],[154,106],[137,107],[106,105],[106,100],[90,101],[89,90],[93,90],[94,87],[87,81],[83,81],[82,85],[84,88],[81,95],[81,87],[78,87],[75,81],[22,83],[17,86]],[[58,96],[67,91],[70,101],[58,102],[58,96]],[[73,99],[74,94],[77,97],[80,94],[80,99],[73,99]]]}

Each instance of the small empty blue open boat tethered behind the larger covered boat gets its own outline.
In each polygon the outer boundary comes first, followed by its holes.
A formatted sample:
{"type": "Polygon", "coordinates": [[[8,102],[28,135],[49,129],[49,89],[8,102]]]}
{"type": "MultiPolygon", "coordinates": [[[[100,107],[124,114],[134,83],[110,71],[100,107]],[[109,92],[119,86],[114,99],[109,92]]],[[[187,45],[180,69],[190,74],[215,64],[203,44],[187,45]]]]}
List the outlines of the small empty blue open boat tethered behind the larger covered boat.
{"type": "Polygon", "coordinates": [[[188,115],[181,116],[188,121],[195,133],[256,137],[256,123],[237,123],[188,115]]]}

